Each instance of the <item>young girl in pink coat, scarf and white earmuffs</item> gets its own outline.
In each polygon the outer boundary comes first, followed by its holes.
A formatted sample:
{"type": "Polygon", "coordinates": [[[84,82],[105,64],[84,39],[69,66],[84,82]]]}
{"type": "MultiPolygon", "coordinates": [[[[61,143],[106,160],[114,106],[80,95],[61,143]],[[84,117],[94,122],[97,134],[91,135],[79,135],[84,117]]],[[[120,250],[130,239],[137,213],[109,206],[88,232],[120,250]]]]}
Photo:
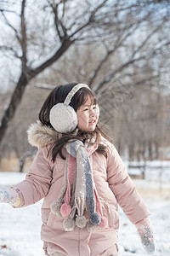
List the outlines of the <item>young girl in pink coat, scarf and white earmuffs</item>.
{"type": "Polygon", "coordinates": [[[26,180],[0,187],[0,201],[26,207],[44,198],[42,241],[50,256],[118,255],[118,206],[155,250],[150,212],[116,148],[99,129],[99,107],[86,84],[56,87],[28,139],[37,146],[26,180]]]}

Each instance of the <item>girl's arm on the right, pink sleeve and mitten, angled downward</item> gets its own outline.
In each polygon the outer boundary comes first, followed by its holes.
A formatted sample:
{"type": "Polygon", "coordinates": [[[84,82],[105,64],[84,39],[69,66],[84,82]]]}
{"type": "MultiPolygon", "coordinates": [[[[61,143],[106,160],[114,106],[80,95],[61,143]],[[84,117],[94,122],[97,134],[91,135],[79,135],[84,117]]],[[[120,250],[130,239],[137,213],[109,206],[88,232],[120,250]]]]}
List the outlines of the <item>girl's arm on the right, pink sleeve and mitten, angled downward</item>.
{"type": "Polygon", "coordinates": [[[150,225],[147,206],[139,195],[131,178],[127,175],[121,157],[112,146],[110,158],[108,158],[108,183],[116,201],[122,207],[127,218],[135,224],[144,249],[147,253],[155,252],[153,231],[150,225]]]}

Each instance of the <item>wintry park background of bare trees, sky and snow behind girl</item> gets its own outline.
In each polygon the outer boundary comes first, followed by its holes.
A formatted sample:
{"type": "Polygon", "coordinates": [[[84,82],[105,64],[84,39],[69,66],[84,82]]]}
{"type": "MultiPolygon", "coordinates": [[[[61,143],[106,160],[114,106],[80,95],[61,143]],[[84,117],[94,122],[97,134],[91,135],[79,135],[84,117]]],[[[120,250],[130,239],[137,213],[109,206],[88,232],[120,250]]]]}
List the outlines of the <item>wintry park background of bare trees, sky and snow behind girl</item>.
{"type": "MultiPolygon", "coordinates": [[[[166,0],[0,0],[0,183],[26,176],[37,151],[26,131],[54,86],[88,84],[150,208],[158,256],[170,253],[169,15],[166,0]]],[[[40,207],[0,206],[0,255],[43,255],[40,207]]],[[[145,255],[120,214],[120,255],[145,255]]]]}

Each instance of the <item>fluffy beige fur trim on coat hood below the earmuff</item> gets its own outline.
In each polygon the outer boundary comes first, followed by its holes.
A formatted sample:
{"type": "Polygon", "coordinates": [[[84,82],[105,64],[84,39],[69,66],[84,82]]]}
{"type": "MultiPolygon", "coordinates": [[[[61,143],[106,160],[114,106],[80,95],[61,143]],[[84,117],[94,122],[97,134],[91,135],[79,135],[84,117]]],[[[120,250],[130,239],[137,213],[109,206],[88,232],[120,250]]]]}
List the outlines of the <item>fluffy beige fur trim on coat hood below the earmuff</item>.
{"type": "Polygon", "coordinates": [[[28,143],[30,143],[31,146],[42,148],[48,144],[54,143],[57,138],[59,138],[60,134],[58,131],[54,131],[53,128],[42,125],[42,123],[37,120],[37,123],[29,127],[27,135],[28,143]]]}

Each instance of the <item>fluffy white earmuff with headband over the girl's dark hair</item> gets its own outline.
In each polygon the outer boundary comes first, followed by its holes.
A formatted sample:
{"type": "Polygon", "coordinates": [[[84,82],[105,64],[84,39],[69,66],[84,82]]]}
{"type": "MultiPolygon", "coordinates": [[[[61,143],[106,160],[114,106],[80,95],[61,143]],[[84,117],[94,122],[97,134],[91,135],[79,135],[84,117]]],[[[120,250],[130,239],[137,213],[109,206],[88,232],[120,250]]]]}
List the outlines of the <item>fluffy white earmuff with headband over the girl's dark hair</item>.
{"type": "Polygon", "coordinates": [[[87,84],[77,84],[72,88],[65,98],[64,103],[57,103],[51,108],[49,113],[50,124],[54,127],[55,131],[67,133],[74,131],[77,127],[77,113],[69,106],[71,98],[77,93],[77,90],[86,87],[90,90],[87,84]]]}

